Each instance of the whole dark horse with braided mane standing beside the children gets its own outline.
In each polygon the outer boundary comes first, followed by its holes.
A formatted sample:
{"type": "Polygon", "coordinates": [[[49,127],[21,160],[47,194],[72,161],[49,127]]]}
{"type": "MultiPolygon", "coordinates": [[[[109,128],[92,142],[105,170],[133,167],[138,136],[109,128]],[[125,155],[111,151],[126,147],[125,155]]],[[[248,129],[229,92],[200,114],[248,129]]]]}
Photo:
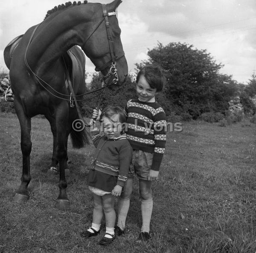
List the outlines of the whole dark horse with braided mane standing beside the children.
{"type": "MultiPolygon", "coordinates": [[[[108,78],[120,83],[125,81],[128,66],[120,39],[120,28],[115,10],[121,0],[103,5],[100,3],[71,2],[62,4],[47,12],[47,16],[38,26],[26,31],[15,45],[10,60],[10,80],[14,93],[14,105],[21,129],[21,151],[23,169],[20,188],[15,195],[16,202],[29,198],[27,187],[30,176],[30,138],[31,118],[43,114],[51,125],[53,134],[52,166],[59,164],[59,195],[57,206],[69,205],[65,179],[67,164],[67,138],[71,138],[75,147],[82,147],[89,136],[82,138],[82,132],[74,131],[72,122],[78,119],[76,107],[70,108],[70,88],[65,85],[66,66],[64,58],[67,51],[76,55],[79,71],[71,78],[75,95],[84,92],[84,55],[79,53],[79,45],[87,57],[108,78]],[[75,47],[74,47],[75,46],[75,47]],[[115,63],[116,77],[111,76],[111,66],[115,63]]],[[[69,60],[66,60],[68,62],[69,60]]],[[[7,65],[7,64],[6,64],[7,65]]],[[[71,64],[72,65],[72,64],[71,64]]],[[[73,94],[73,95],[74,95],[73,94]]],[[[80,97],[76,97],[78,100],[80,97]]]]}

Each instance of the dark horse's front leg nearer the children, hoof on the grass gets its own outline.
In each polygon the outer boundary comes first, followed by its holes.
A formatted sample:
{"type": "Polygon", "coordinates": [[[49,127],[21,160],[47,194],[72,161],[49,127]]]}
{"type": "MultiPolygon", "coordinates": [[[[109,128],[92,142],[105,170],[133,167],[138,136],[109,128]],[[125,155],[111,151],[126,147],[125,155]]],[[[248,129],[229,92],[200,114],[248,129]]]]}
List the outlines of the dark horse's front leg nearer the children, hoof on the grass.
{"type": "Polygon", "coordinates": [[[67,168],[67,145],[66,145],[66,136],[68,128],[68,104],[66,101],[61,102],[61,104],[56,109],[56,129],[57,129],[57,145],[56,145],[56,158],[59,164],[60,170],[60,181],[58,184],[59,187],[59,196],[57,198],[57,207],[58,208],[67,208],[70,205],[70,201],[67,198],[66,188],[67,181],[65,178],[65,168],[67,168]]]}

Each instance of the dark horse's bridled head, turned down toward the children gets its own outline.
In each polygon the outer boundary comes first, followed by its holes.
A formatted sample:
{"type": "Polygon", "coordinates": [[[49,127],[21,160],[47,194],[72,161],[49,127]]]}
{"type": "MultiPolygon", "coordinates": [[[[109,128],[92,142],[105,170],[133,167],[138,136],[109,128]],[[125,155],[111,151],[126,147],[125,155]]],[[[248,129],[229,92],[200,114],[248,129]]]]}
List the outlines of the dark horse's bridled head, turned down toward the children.
{"type": "Polygon", "coordinates": [[[91,25],[82,45],[84,53],[96,66],[96,71],[101,71],[104,76],[111,76],[108,83],[116,78],[113,75],[115,68],[119,83],[123,83],[128,74],[128,65],[120,38],[121,29],[115,13],[121,2],[114,0],[107,5],[93,4],[91,25]]]}

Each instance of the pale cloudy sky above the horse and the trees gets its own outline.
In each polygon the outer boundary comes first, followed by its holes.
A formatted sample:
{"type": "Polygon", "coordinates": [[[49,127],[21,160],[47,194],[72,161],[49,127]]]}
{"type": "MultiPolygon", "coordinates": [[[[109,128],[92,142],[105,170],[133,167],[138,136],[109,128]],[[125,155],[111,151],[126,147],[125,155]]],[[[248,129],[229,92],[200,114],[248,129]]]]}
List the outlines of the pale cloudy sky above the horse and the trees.
{"type": "MultiPolygon", "coordinates": [[[[110,3],[111,0],[89,0],[110,3]]],[[[3,50],[16,36],[44,20],[61,0],[0,0],[0,70],[3,50]]],[[[206,49],[221,73],[247,84],[256,72],[256,0],[123,0],[118,7],[121,40],[130,73],[160,42],[206,49]]],[[[87,58],[86,72],[94,65],[87,58]]]]}

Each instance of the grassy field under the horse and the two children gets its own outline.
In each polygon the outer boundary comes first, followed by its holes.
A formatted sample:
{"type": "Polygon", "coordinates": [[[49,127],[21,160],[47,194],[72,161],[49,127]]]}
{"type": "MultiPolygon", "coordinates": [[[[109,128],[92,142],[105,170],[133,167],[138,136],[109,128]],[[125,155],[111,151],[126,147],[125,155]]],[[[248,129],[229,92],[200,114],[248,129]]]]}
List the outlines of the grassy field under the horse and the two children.
{"type": "Polygon", "coordinates": [[[160,178],[153,185],[154,208],[148,244],[137,244],[141,214],[138,182],[128,213],[129,232],[113,244],[104,235],[83,239],[92,219],[86,176],[93,147],[69,143],[69,210],[55,208],[58,176],[47,173],[52,135],[46,119],[32,119],[30,199],[12,201],[20,185],[22,155],[16,115],[0,114],[0,252],[256,252],[255,124],[247,120],[184,122],[168,134],[160,178]]]}

